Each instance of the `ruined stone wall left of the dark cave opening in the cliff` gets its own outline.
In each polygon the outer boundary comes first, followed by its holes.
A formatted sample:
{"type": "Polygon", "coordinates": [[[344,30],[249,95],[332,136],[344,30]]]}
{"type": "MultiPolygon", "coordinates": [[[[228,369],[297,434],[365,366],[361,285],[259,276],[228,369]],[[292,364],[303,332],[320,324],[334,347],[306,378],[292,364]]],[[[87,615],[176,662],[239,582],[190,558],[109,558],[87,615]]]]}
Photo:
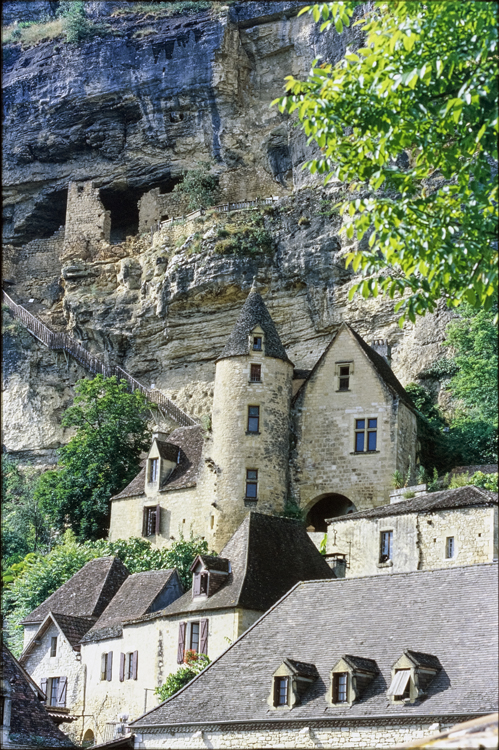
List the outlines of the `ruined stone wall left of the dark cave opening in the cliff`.
{"type": "Polygon", "coordinates": [[[111,236],[111,213],[106,211],[92,181],[70,182],[66,210],[64,256],[88,260],[111,236]]]}

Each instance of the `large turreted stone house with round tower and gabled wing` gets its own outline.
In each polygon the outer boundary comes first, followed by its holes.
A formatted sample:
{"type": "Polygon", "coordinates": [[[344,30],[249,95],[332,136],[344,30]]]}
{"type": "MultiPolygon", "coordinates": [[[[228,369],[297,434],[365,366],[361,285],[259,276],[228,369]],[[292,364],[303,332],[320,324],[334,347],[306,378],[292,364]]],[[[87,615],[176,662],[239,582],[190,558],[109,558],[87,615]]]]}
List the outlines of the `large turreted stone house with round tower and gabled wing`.
{"type": "Polygon", "coordinates": [[[211,425],[154,434],[112,498],[111,540],[161,546],[192,528],[219,551],[250,509],[281,513],[289,498],[323,536],[326,518],[387,503],[393,473],[416,462],[414,407],[386,358],[344,323],[295,371],[254,289],[216,363],[211,425]]]}

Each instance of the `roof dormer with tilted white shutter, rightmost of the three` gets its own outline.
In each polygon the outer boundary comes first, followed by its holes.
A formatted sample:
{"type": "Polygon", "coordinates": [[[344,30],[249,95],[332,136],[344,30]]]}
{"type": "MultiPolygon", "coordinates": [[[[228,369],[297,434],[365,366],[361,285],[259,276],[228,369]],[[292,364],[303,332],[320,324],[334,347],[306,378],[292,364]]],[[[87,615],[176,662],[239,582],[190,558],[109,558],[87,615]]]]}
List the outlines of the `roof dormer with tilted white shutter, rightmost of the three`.
{"type": "Polygon", "coordinates": [[[392,667],[387,695],[393,703],[415,703],[426,696],[427,688],[442,665],[436,656],[419,651],[404,651],[392,667]]]}

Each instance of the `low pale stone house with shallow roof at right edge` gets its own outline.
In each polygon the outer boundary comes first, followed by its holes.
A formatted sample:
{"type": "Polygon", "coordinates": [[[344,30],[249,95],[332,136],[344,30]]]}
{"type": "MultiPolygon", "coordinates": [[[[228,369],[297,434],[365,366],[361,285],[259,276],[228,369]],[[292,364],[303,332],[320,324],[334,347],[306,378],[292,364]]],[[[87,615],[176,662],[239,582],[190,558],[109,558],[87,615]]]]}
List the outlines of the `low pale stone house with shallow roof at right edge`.
{"type": "Polygon", "coordinates": [[[447,568],[497,560],[497,495],[458,487],[328,521],[338,577],[447,568]]]}

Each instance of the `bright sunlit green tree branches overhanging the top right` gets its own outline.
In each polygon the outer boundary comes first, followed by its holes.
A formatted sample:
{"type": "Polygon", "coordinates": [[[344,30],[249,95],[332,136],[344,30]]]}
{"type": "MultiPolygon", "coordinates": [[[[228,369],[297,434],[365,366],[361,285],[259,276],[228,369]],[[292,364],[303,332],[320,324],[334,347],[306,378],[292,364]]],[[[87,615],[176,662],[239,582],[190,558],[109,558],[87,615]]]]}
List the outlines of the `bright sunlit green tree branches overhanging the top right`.
{"type": "MultiPolygon", "coordinates": [[[[341,33],[359,2],[300,12],[341,33]]],[[[363,6],[365,9],[365,6],[363,6]]],[[[357,9],[357,10],[356,10],[357,9]]],[[[351,296],[399,297],[414,322],[439,299],[490,309],[497,294],[497,3],[374,2],[355,24],[365,44],[336,65],[288,76],[280,110],[297,111],[307,163],[354,194],[341,205],[351,296]]]]}

